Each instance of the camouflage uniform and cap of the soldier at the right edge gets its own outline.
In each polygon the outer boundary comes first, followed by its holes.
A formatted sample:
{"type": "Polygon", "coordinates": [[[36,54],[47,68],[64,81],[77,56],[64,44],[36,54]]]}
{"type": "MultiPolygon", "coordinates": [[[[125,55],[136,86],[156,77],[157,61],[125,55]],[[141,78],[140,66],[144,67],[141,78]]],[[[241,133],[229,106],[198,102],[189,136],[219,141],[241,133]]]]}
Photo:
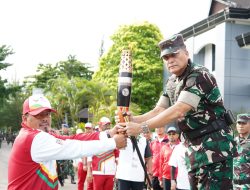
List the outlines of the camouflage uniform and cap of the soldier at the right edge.
{"type": "MultiPolygon", "coordinates": [[[[250,121],[250,114],[239,114],[239,119],[250,121]]],[[[250,189],[250,135],[247,138],[235,138],[238,149],[238,157],[234,158],[234,189],[248,190],[250,189]],[[248,180],[248,181],[245,181],[248,180]]]]}

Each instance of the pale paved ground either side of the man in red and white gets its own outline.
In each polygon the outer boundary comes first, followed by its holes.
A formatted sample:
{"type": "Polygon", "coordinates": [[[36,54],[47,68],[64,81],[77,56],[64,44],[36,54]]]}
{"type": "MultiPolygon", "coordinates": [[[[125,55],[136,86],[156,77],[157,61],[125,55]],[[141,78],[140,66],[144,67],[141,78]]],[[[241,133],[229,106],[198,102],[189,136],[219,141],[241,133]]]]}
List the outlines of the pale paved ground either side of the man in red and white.
{"type": "MultiPolygon", "coordinates": [[[[11,144],[3,141],[0,149],[0,189],[7,189],[8,183],[8,159],[11,150],[11,144]]],[[[70,178],[70,177],[69,177],[70,178]]],[[[77,180],[77,179],[76,179],[77,180]]],[[[69,179],[65,180],[64,187],[59,186],[60,190],[74,190],[77,189],[77,184],[71,184],[69,179]]]]}

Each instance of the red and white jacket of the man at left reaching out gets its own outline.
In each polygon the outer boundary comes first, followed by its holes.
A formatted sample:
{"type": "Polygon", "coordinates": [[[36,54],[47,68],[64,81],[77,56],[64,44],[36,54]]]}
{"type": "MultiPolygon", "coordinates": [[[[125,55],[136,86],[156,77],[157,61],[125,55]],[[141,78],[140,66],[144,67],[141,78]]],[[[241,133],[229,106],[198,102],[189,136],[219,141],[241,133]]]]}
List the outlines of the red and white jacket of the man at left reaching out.
{"type": "Polygon", "coordinates": [[[61,136],[22,126],[9,158],[8,190],[58,189],[56,160],[92,156],[116,147],[106,132],[61,136]]]}

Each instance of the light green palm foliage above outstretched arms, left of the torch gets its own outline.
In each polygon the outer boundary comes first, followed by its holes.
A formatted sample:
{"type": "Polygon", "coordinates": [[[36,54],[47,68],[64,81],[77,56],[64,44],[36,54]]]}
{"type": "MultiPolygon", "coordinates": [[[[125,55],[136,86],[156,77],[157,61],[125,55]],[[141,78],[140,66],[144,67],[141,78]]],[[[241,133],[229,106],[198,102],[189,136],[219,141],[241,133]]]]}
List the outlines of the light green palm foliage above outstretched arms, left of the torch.
{"type": "MultiPolygon", "coordinates": [[[[65,113],[69,113],[70,124],[75,126],[78,122],[78,113],[81,109],[89,107],[94,115],[93,121],[99,119],[102,110],[106,114],[114,114],[112,92],[101,82],[88,81],[87,79],[74,77],[70,80],[66,77],[51,81],[50,91],[46,90],[52,105],[58,111],[58,120],[62,121],[65,113]]],[[[93,122],[92,121],[92,122],[93,122]]]]}

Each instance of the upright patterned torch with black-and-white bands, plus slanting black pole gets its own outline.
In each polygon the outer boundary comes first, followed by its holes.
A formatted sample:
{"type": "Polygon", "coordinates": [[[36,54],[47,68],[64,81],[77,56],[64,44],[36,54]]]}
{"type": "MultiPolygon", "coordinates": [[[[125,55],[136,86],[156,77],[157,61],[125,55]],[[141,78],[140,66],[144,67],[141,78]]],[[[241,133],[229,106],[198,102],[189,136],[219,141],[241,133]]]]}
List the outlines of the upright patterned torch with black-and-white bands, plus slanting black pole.
{"type": "MultiPolygon", "coordinates": [[[[130,50],[122,50],[121,62],[119,68],[118,89],[117,89],[117,111],[120,122],[129,122],[127,112],[129,111],[130,97],[132,87],[132,56],[130,50]]],[[[147,169],[144,164],[141,152],[139,150],[137,140],[134,136],[130,137],[133,148],[136,150],[146,179],[150,188],[152,188],[151,181],[147,174],[147,169]]]]}

